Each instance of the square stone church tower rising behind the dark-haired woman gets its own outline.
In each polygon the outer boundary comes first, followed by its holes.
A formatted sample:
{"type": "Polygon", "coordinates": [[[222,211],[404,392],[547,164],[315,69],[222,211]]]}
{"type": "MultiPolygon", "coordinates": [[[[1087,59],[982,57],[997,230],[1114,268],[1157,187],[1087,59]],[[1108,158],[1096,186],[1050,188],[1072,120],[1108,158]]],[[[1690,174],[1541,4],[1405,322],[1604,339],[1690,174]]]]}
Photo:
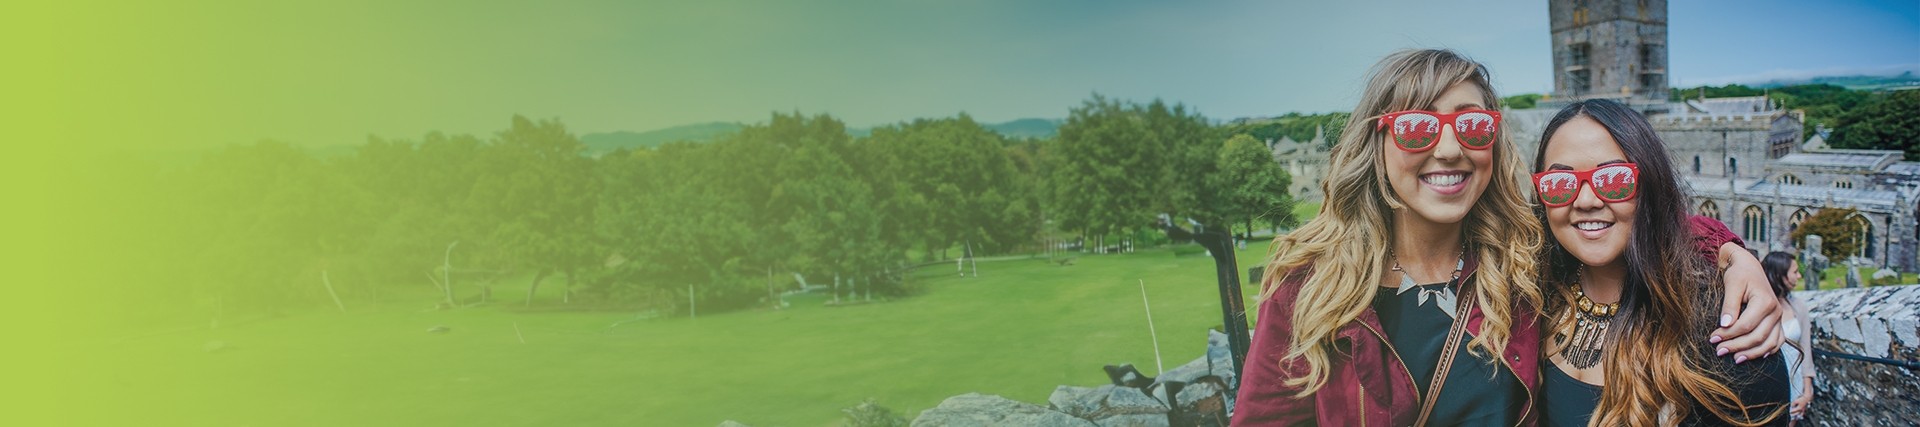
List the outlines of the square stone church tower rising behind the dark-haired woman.
{"type": "Polygon", "coordinates": [[[1553,96],[1667,110],[1667,0],[1551,0],[1553,96]]]}

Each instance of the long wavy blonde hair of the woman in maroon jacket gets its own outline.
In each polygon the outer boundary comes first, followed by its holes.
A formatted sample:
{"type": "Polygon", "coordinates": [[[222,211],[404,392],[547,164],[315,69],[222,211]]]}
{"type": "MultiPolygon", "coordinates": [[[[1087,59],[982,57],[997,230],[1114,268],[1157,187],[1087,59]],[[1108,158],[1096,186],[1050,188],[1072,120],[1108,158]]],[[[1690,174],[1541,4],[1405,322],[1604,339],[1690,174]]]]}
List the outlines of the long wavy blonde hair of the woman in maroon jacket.
{"type": "MultiPolygon", "coordinates": [[[[1432,110],[1440,94],[1457,83],[1478,85],[1482,104],[1500,108],[1486,67],[1452,50],[1394,52],[1369,75],[1367,90],[1332,148],[1319,215],[1275,239],[1269,250],[1267,271],[1275,275],[1263,283],[1261,300],[1273,296],[1281,277],[1311,267],[1311,277],[1292,300],[1292,344],[1281,358],[1283,364],[1306,360],[1306,375],[1286,379],[1286,387],[1300,387],[1298,396],[1327,385],[1334,331],[1357,319],[1379,292],[1388,267],[1382,248],[1392,244],[1394,210],[1405,208],[1386,183],[1386,133],[1375,125],[1379,117],[1432,110]]],[[[1500,358],[1515,321],[1536,321],[1515,319],[1517,306],[1540,306],[1536,256],[1542,233],[1521,190],[1524,169],[1515,150],[1501,129],[1494,144],[1492,183],[1461,219],[1463,240],[1478,258],[1473,292],[1486,314],[1467,348],[1480,358],[1500,358]]]]}

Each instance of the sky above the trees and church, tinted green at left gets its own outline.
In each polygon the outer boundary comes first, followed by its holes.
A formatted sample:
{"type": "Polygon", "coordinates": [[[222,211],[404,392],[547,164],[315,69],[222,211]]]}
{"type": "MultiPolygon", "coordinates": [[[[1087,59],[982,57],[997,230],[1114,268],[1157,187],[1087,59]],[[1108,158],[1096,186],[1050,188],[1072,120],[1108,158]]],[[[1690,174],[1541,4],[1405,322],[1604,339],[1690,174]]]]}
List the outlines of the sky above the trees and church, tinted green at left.
{"type": "MultiPolygon", "coordinates": [[[[1453,48],[1551,88],[1548,8],[1453,2],[58,2],[0,17],[36,138],[192,148],[831,113],[1066,117],[1091,94],[1213,119],[1350,110],[1373,62],[1453,48]]],[[[1920,69],[1920,0],[1682,0],[1670,85],[1920,69]]]]}

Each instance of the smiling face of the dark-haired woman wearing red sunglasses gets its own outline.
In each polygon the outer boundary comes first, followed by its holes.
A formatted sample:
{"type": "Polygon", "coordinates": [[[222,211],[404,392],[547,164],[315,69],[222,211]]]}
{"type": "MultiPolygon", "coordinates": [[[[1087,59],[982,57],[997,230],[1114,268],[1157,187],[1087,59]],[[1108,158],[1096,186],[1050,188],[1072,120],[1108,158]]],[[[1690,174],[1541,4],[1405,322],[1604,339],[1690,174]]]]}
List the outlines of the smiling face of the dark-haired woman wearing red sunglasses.
{"type": "MultiPolygon", "coordinates": [[[[1613,140],[1594,117],[1574,117],[1553,131],[1546,140],[1546,169],[1584,171],[1609,163],[1626,163],[1626,152],[1613,140]]],[[[1596,177],[1599,179],[1599,177],[1596,177]]],[[[1559,240],[1567,254],[1592,267],[1624,262],[1628,240],[1634,235],[1634,212],[1640,198],[1624,202],[1603,202],[1594,194],[1592,185],[1580,185],[1572,204],[1548,208],[1548,231],[1559,240]]]]}

